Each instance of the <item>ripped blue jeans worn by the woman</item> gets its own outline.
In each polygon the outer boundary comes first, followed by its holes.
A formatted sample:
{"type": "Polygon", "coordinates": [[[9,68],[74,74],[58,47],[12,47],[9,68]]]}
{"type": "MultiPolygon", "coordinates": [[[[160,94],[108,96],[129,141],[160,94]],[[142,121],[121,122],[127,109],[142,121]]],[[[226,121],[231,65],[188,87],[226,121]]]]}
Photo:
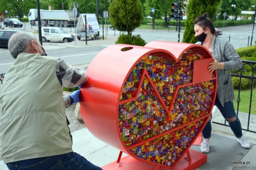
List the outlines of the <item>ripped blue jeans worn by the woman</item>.
{"type": "MultiPolygon", "coordinates": [[[[228,121],[228,124],[229,124],[231,130],[233,131],[233,133],[235,134],[235,136],[237,138],[241,137],[242,136],[241,122],[236,115],[233,101],[225,102],[224,107],[222,107],[218,97],[216,97],[215,105],[220,110],[222,116],[225,119],[236,117],[235,121],[233,121],[233,122],[228,121]]],[[[211,133],[212,133],[212,124],[211,124],[211,121],[208,121],[202,131],[203,138],[204,139],[210,138],[211,133]]]]}

